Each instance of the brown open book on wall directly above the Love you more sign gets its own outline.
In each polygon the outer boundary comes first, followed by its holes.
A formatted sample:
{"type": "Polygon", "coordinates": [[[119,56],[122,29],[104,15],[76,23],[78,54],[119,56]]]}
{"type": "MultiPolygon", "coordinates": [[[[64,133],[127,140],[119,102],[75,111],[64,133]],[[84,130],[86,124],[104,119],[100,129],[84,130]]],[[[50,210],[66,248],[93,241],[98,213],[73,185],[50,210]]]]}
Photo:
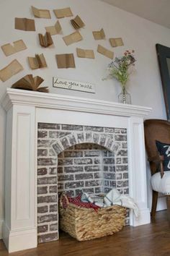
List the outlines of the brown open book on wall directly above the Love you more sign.
{"type": "Polygon", "coordinates": [[[56,54],[58,69],[68,69],[76,67],[73,54],[56,54]]]}

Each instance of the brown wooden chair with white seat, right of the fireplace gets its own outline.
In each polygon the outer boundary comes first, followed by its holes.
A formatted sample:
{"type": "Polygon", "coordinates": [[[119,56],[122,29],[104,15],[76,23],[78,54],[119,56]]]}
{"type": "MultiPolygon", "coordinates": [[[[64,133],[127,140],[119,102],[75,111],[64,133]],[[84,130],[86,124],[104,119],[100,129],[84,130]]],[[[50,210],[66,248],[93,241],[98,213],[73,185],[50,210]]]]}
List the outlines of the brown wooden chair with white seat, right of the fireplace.
{"type": "Polygon", "coordinates": [[[170,144],[170,122],[161,119],[144,121],[146,152],[151,168],[151,187],[153,189],[151,216],[156,215],[158,192],[166,195],[168,218],[170,221],[170,171],[164,171],[164,156],[159,155],[156,140],[170,144]],[[160,175],[159,175],[160,174],[160,175]]]}

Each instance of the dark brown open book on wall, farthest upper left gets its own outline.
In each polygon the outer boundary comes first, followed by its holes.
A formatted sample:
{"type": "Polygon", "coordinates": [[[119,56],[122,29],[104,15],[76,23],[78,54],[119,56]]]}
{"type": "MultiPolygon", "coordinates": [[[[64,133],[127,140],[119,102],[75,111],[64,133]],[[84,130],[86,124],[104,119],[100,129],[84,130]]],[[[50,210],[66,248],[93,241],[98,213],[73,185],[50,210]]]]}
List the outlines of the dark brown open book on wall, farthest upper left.
{"type": "Polygon", "coordinates": [[[35,20],[27,18],[15,18],[15,29],[25,31],[35,31],[35,20]]]}

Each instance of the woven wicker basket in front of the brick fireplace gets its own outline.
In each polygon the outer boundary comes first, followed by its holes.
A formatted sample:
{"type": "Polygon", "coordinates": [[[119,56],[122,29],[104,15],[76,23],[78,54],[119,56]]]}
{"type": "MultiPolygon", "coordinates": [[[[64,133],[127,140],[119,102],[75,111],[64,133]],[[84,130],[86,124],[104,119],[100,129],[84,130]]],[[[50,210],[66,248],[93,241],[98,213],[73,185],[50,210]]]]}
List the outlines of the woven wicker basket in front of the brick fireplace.
{"type": "Polygon", "coordinates": [[[95,212],[69,203],[66,209],[60,204],[59,210],[60,228],[79,241],[112,235],[125,226],[126,208],[119,205],[95,212]]]}

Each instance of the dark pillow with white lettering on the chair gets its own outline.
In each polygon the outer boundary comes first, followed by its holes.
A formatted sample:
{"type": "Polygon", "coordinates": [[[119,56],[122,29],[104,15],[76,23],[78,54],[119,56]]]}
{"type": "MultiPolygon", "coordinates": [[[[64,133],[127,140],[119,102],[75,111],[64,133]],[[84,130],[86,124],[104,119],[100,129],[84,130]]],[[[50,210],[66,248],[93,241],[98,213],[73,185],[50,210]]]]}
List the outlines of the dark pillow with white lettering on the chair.
{"type": "Polygon", "coordinates": [[[164,155],[164,171],[170,171],[170,144],[156,140],[156,147],[160,155],[164,155]]]}

